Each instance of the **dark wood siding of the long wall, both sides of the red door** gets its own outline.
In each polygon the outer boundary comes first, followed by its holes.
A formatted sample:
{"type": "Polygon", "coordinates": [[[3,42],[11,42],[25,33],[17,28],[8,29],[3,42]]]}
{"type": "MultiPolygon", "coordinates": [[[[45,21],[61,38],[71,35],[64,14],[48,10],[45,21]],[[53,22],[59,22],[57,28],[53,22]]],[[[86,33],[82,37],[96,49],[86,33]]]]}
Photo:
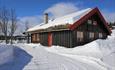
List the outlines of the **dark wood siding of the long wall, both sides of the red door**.
{"type": "MultiPolygon", "coordinates": [[[[52,45],[59,45],[65,47],[72,47],[71,31],[54,31],[52,34],[52,45]]],[[[40,33],[40,43],[44,46],[48,46],[48,32],[40,33]]]]}

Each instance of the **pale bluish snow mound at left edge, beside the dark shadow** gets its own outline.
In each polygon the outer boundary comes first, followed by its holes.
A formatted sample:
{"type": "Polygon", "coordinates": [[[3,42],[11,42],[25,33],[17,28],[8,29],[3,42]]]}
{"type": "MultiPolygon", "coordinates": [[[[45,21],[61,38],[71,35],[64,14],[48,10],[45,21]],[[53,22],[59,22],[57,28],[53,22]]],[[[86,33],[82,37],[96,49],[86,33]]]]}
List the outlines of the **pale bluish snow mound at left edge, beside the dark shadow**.
{"type": "Polygon", "coordinates": [[[0,45],[0,65],[13,60],[13,47],[9,45],[0,45]]]}

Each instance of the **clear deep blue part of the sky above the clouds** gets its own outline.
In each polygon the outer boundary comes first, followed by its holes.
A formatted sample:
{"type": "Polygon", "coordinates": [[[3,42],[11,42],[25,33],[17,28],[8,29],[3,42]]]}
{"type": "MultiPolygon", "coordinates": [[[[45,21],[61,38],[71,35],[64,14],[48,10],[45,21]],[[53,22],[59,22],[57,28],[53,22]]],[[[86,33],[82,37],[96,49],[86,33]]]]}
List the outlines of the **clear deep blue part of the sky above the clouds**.
{"type": "Polygon", "coordinates": [[[73,3],[82,8],[99,7],[106,12],[115,12],[115,0],[0,0],[0,6],[14,8],[19,17],[41,15],[44,10],[58,3],[73,3]]]}

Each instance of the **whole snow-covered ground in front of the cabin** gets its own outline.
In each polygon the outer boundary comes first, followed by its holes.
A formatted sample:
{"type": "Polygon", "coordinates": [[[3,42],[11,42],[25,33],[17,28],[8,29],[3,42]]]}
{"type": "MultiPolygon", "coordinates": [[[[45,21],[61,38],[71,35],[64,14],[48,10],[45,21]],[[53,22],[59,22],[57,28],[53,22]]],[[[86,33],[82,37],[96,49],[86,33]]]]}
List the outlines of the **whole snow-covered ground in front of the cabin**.
{"type": "MultiPolygon", "coordinates": [[[[13,61],[1,64],[0,70],[115,70],[115,30],[106,40],[75,48],[40,44],[15,44],[11,48],[13,61]]],[[[7,54],[0,53],[0,59],[7,54]]],[[[6,59],[11,60],[4,58],[2,62],[6,59]]]]}

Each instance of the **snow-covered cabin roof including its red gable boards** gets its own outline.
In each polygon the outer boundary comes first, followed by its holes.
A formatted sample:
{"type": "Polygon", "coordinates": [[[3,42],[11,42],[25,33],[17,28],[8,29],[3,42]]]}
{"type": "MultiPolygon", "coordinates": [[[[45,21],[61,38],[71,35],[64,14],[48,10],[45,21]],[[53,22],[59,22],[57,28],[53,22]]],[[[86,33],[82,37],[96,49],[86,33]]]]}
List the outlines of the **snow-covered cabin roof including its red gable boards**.
{"type": "Polygon", "coordinates": [[[108,33],[111,34],[111,30],[109,29],[107,22],[105,21],[104,17],[102,16],[98,8],[94,8],[94,9],[87,8],[78,12],[74,12],[72,14],[65,15],[63,17],[56,18],[53,21],[49,20],[47,24],[41,23],[35,27],[28,29],[27,32],[45,30],[52,27],[55,28],[60,25],[69,25],[67,29],[73,30],[95,13],[99,15],[108,33]]]}

